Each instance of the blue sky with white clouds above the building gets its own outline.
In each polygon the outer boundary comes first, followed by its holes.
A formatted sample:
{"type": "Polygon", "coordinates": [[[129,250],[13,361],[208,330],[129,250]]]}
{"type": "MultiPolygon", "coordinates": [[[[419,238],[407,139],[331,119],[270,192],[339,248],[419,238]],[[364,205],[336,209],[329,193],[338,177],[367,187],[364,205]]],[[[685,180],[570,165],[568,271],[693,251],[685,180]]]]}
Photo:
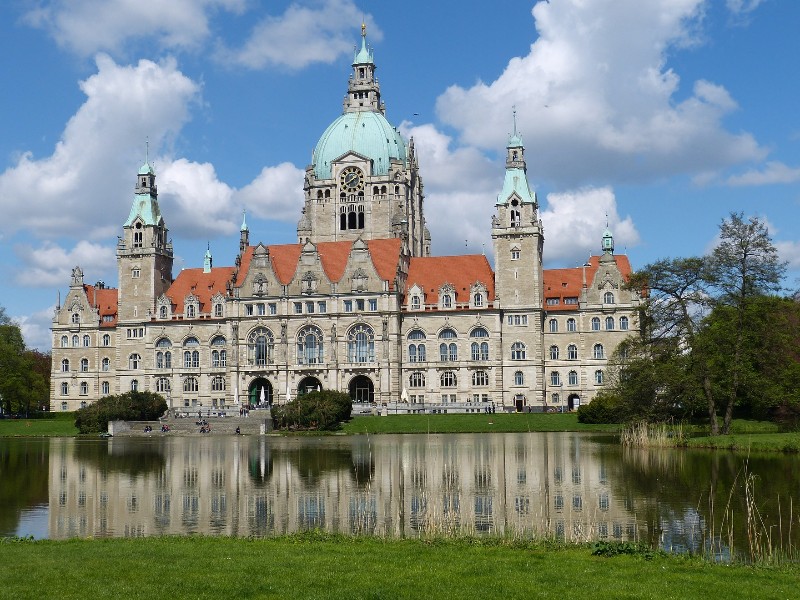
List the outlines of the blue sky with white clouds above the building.
{"type": "Polygon", "coordinates": [[[800,277],[794,0],[11,0],[0,8],[0,305],[48,349],[70,270],[116,285],[145,140],[175,274],[294,241],[362,18],[387,117],[417,145],[436,255],[491,253],[512,107],[547,267],[606,219],[634,268],[765,219],[800,277]]]}

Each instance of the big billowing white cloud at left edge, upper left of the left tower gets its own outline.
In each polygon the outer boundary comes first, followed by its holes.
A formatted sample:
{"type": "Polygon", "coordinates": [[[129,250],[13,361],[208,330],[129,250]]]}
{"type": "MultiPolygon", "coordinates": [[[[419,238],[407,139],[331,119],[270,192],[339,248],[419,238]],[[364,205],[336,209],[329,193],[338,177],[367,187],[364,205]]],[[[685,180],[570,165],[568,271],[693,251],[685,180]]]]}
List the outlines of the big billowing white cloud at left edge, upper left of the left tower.
{"type": "Polygon", "coordinates": [[[96,62],[97,73],[80,84],[86,101],[53,153],[24,153],[0,174],[3,234],[107,236],[130,208],[145,137],[151,147],[168,146],[189,119],[199,86],[174,60],[120,66],[98,55],[96,62]]]}

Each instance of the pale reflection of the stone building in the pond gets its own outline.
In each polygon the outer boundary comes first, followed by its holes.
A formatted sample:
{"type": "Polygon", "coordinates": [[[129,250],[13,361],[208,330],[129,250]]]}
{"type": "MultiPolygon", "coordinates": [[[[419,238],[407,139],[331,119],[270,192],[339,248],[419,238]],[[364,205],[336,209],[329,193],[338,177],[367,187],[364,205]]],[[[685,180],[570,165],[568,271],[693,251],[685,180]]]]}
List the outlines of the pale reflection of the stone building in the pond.
{"type": "Polygon", "coordinates": [[[580,434],[52,444],[54,539],[308,529],[566,540],[643,533],[632,507],[616,497],[602,453],[580,434]]]}

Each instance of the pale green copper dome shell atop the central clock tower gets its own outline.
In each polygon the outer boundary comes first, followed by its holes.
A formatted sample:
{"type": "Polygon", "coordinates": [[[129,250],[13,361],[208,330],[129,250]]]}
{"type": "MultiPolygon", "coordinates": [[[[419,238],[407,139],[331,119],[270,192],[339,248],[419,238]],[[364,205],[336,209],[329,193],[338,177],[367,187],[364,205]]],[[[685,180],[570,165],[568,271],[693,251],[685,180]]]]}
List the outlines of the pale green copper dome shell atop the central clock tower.
{"type": "Polygon", "coordinates": [[[325,130],[311,157],[317,179],[330,179],[331,162],[348,152],[371,158],[373,175],[386,175],[392,159],[408,161],[400,132],[373,111],[345,113],[325,130]]]}

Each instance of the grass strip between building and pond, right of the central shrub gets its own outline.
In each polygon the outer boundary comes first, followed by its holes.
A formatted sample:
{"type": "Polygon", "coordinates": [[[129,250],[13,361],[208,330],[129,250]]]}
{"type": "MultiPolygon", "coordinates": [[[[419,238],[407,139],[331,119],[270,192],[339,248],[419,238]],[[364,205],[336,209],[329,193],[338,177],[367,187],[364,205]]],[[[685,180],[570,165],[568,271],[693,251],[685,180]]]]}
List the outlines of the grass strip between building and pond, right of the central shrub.
{"type": "Polygon", "coordinates": [[[527,431],[616,432],[619,425],[584,425],[577,413],[473,413],[357,416],[342,426],[355,433],[515,433],[527,431]]]}

